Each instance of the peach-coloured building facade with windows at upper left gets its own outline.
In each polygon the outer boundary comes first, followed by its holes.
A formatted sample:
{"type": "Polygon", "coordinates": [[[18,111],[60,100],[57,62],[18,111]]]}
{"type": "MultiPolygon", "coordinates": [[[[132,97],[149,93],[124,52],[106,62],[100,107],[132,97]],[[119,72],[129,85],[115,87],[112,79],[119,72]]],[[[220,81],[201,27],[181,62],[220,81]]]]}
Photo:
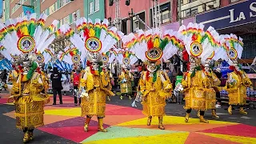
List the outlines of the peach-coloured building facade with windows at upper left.
{"type": "Polygon", "coordinates": [[[59,27],[62,24],[72,24],[77,18],[84,16],[84,1],[86,0],[6,0],[5,19],[24,16],[21,5],[34,6],[38,15],[48,15],[46,26],[56,19],[59,27]]]}

